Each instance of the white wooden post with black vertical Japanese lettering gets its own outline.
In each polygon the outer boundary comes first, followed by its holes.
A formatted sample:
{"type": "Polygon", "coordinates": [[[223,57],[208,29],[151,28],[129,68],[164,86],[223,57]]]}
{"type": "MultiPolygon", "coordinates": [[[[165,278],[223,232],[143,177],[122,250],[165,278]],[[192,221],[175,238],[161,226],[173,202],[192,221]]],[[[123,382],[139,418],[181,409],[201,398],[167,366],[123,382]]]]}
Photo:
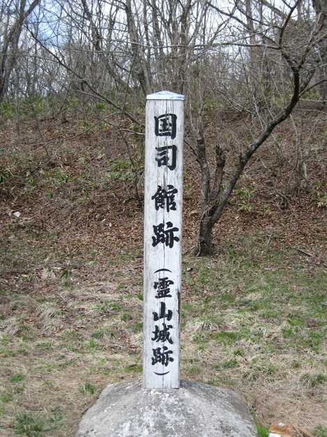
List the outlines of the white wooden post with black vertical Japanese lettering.
{"type": "Polygon", "coordinates": [[[145,388],[180,388],[184,95],[147,95],[145,110],[145,388]]]}

